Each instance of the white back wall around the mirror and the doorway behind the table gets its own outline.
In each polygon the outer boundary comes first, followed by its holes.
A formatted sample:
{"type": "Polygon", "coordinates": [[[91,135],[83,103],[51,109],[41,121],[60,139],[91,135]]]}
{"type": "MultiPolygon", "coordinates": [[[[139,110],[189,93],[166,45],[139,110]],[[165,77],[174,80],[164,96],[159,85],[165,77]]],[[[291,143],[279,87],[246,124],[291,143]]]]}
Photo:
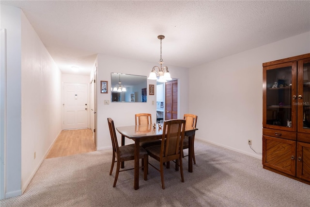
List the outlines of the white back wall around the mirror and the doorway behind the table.
{"type": "MultiPolygon", "coordinates": [[[[148,76],[152,68],[156,65],[156,62],[149,63],[98,54],[97,63],[97,150],[102,150],[111,148],[108,117],[114,120],[115,127],[117,127],[135,125],[135,114],[150,113],[152,114],[152,122],[156,123],[156,95],[147,95],[147,103],[110,102],[111,72],[148,76]],[[108,93],[100,93],[100,81],[109,82],[108,93]],[[104,100],[109,100],[109,105],[104,105],[104,100]],[[154,105],[152,105],[153,101],[154,105]]],[[[167,66],[169,67],[171,78],[178,79],[178,118],[183,118],[183,115],[188,113],[188,69],[167,66]]],[[[149,94],[149,84],[156,86],[156,81],[148,80],[147,82],[147,94],[149,94]]],[[[119,134],[118,138],[121,138],[119,134]]],[[[126,143],[130,143],[130,140],[125,141],[126,143]]]]}

